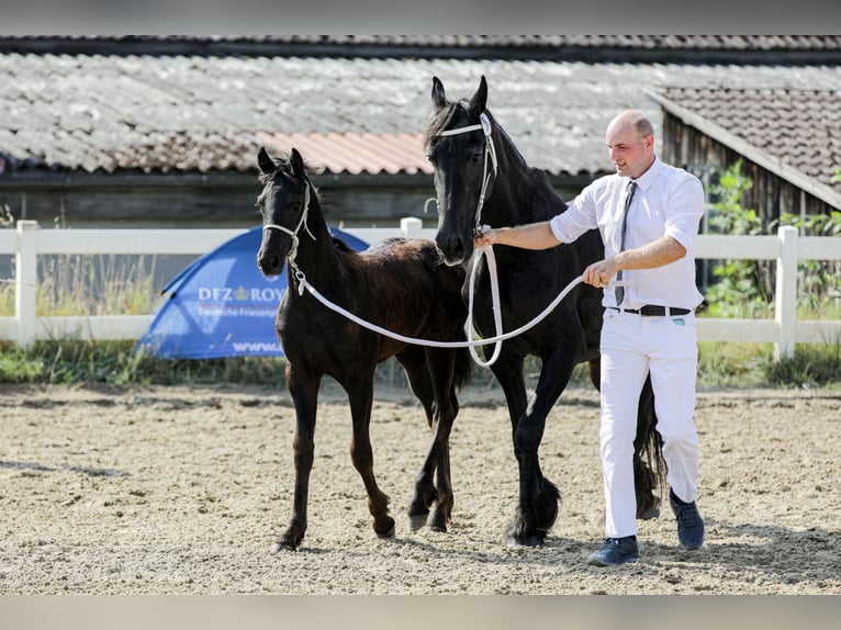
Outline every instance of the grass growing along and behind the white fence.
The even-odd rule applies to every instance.
[[[65,255],[38,258],[37,314],[133,315],[152,312],[158,295],[153,286],[155,259],[128,256]],[[14,314],[14,285],[0,284],[0,315]],[[801,306],[804,318],[841,318],[827,307]],[[0,382],[5,383],[138,383],[138,384],[253,384],[279,386],[282,358],[164,360],[135,353],[133,341],[41,341],[21,350],[0,344]],[[525,364],[529,382],[540,371],[537,359]],[[495,383],[489,370],[474,370],[474,383]],[[378,370],[386,384],[405,381],[394,361]],[[573,384],[588,385],[584,365]],[[841,386],[841,340],[823,345],[799,344],[793,359],[775,362],[771,344],[700,342],[698,384],[711,387]]]

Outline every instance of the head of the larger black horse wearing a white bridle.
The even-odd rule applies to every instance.
[[[438,233],[435,241],[447,265],[461,265],[473,254],[473,230],[481,205],[495,180],[496,155],[485,110],[487,82],[482,77],[469,101],[450,102],[444,83],[433,77],[435,117],[425,136],[435,168]]]

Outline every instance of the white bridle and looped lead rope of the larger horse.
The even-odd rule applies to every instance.
[[[479,191],[479,202],[476,203],[476,213],[475,213],[475,225],[473,227],[473,233],[479,234],[482,232],[482,206],[484,206],[485,198],[489,194],[489,188],[492,184],[492,181],[496,181],[496,148],[493,144],[493,137],[491,136],[491,120],[487,117],[487,114],[482,112],[479,115],[479,122],[478,125],[468,125],[464,127],[456,127],[453,130],[447,130],[444,132],[440,132],[439,136],[455,136],[458,134],[466,134],[468,132],[475,132],[479,130],[482,130],[482,132],[485,135],[485,150],[484,150],[484,157],[483,157],[483,166],[482,166],[482,173],[484,177],[482,178],[482,189]],[[493,167],[493,170],[487,169],[487,156],[491,156],[491,166]],[[493,180],[492,180],[493,178]],[[491,275],[491,299],[493,301],[493,315],[494,315],[494,326],[496,329],[496,338],[500,339],[495,342],[493,356],[487,361],[482,361],[482,359],[479,357],[479,353],[476,352],[475,348],[473,346],[469,346],[470,355],[473,357],[473,361],[478,365],[481,365],[483,368],[487,368],[491,364],[493,364],[496,359],[500,358],[500,352],[502,351],[502,337],[503,337],[503,329],[502,329],[502,308],[500,307],[500,283],[496,278],[496,258],[494,257],[493,249],[491,247],[480,247],[479,249],[474,250],[474,256],[476,257],[476,260],[473,261],[473,268],[470,270],[470,292],[469,292],[469,299],[468,299],[468,318],[464,322],[464,331],[467,333],[468,339],[473,338],[473,290],[475,288],[475,277],[476,277],[476,269],[479,268],[479,259],[481,259],[482,256],[485,256],[487,258],[487,273]],[[490,341],[485,341],[487,344]]]

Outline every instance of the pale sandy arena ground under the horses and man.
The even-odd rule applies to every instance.
[[[378,389],[375,469],[397,520],[371,529],[348,457],[350,418],[323,389],[310,528],[270,553],[292,491],[283,390],[0,387],[0,594],[841,594],[841,394],[700,392],[707,544],[676,545],[668,508],[640,562],[599,569],[597,396],[572,389],[541,446],[563,495],[541,549],[508,548],[516,464],[498,389],[462,393],[447,533],[405,511],[428,430],[401,387]]]

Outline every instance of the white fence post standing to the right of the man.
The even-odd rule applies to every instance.
[[[797,228],[786,225],[777,230],[780,258],[776,259],[776,297],[774,319],[777,338],[774,360],[793,359],[797,327]]]

